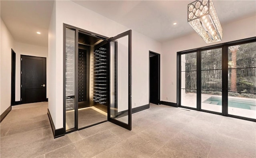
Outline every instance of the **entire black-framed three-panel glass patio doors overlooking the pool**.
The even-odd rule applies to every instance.
[[[179,107],[256,121],[256,38],[178,52]]]

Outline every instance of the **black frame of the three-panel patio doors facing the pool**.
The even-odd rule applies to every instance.
[[[177,52],[177,104],[178,107],[186,108],[186,109],[192,109],[197,111],[203,111],[207,113],[213,113],[217,115],[223,115],[228,117],[234,117],[237,119],[244,119],[244,120],[250,120],[256,122],[256,119],[251,119],[247,117],[241,117],[236,115],[230,115],[228,114],[228,47],[232,45],[239,45],[244,43],[250,43],[255,42],[256,37],[252,38],[246,38],[246,39],[240,39],[236,41],[230,41],[226,43],[220,43],[216,45],[210,45],[206,47],[200,47],[196,49],[190,49],[186,51],[179,51]],[[201,109],[201,51],[209,50],[209,49],[216,49],[216,48],[222,48],[222,113],[214,112],[214,111],[208,111]],[[185,107],[181,105],[181,55],[186,53],[194,53],[196,52],[196,71],[197,71],[197,95],[196,95],[196,102],[197,107]]]

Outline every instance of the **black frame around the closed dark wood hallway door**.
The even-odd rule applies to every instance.
[[[23,99],[22,100],[22,57],[38,57],[38,56],[32,56],[32,55],[20,55],[20,104],[26,104],[26,103],[37,103],[37,102],[42,102],[42,101],[47,101],[47,97],[46,97],[46,94],[45,94],[45,99],[42,100],[42,101],[33,101],[33,102],[25,102],[25,100]],[[46,57],[40,57],[40,58],[44,58],[45,59],[45,81],[46,81]],[[46,81],[47,83],[47,81]],[[45,93],[47,91],[47,84],[45,84]]]

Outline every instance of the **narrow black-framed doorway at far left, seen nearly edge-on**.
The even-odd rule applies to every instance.
[[[15,104],[16,53],[12,49],[11,105]]]

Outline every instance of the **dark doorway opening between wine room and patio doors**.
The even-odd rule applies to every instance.
[[[160,54],[149,51],[149,102],[160,103]]]

